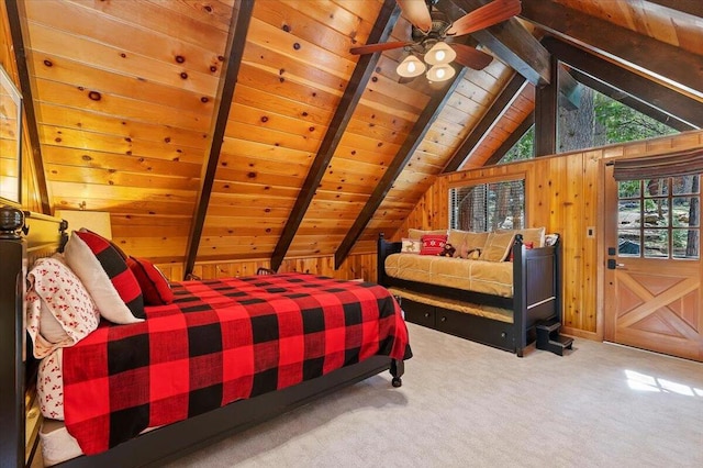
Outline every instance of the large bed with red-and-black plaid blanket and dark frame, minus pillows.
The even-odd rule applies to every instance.
[[[386,288],[297,274],[182,281],[144,320],[102,317],[59,348],[65,421],[41,428],[47,358],[33,359],[25,311],[38,288],[32,266],[53,263],[66,233],[62,220],[0,208],[0,379],[14,382],[0,398],[3,467],[30,463],[40,431],[68,433],[74,455],[90,454],[60,466],[157,466],[384,370],[402,383],[412,352]]]

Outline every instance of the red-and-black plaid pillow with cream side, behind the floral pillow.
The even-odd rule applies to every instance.
[[[140,283],[108,239],[88,231],[74,231],[64,257],[96,301],[100,315],[119,324],[143,320]]]

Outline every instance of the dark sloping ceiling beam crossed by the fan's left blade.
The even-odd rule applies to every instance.
[[[367,43],[375,44],[388,41],[399,16],[400,9],[398,8],[395,0],[386,0],[378,18],[376,19],[376,24],[371,30],[371,34],[369,35]],[[278,243],[276,244],[276,248],[271,255],[271,268],[274,270],[278,270],[281,266],[281,263],[286,257],[286,253],[288,252],[290,244],[293,242],[295,232],[298,231],[298,227],[300,227],[305,212],[308,211],[308,208],[310,208],[310,203],[312,203],[315,191],[317,190],[327,166],[330,165],[330,161],[332,160],[332,157],[346,132],[347,125],[354,115],[354,111],[364,94],[364,90],[371,79],[371,75],[373,75],[373,70],[379,58],[380,54],[366,54],[361,55],[359,60],[356,63],[352,78],[349,78],[349,83],[344,91],[339,105],[335,110],[327,132],[325,133],[325,136],[320,144],[320,148],[317,149],[317,155],[310,167],[310,171],[308,172],[305,181],[300,189],[300,193],[298,193],[298,199],[295,199],[295,204],[293,204],[293,209],[288,216],[288,221],[286,221],[283,232],[278,238]]]

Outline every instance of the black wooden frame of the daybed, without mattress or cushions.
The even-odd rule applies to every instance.
[[[490,305],[513,311],[513,323],[487,316],[429,307],[422,300],[399,297],[410,322],[431,326],[453,335],[494,346],[523,357],[525,347],[535,341],[537,324],[561,322],[561,242],[553,246],[526,248],[522,235],[515,236],[513,253],[513,297],[409,281],[386,274],[386,257],[401,252],[401,242],[378,238],[378,282],[387,288],[429,296],[437,300]]]

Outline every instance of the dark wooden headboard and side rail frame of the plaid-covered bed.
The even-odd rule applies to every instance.
[[[36,379],[23,324],[26,272],[36,258],[59,252],[67,239],[65,221],[0,207],[0,467],[24,467],[34,455],[36,434],[25,442],[25,394]],[[96,456],[81,456],[62,467],[159,466],[266,420],[291,411],[390,369],[401,385],[403,361],[386,356],[347,366],[283,390],[238,400],[196,417],[142,434]],[[13,383],[11,383],[13,382]],[[38,428],[38,427],[37,427]],[[36,431],[35,428],[34,431]]]

